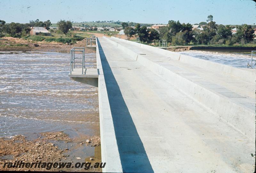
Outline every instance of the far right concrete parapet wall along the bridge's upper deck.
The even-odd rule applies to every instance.
[[[171,51],[160,49],[160,48],[157,48],[157,47],[152,47],[152,46],[136,43],[136,42],[133,42],[133,41],[123,40],[123,39],[119,39],[119,38],[116,38],[116,37],[111,37],[111,38],[113,38],[117,41],[122,41],[122,42],[129,43],[129,44],[131,44],[133,46],[136,46],[136,47],[141,47],[141,48],[144,48],[144,49],[148,49],[150,51],[154,50],[154,52],[156,52],[158,54],[162,54],[164,56],[170,57],[171,60],[179,60],[179,61],[182,61],[182,62],[187,62],[187,63],[193,64],[193,65],[197,65],[197,66],[200,66],[200,67],[208,68],[208,69],[211,69],[213,71],[220,72],[224,75],[235,77],[237,79],[240,79],[240,80],[243,80],[243,81],[246,81],[246,82],[256,81],[255,69],[253,70],[253,69],[247,69],[247,68],[246,69],[235,68],[235,67],[231,67],[231,66],[216,63],[216,62],[191,57],[191,56],[188,56],[188,55],[178,54],[176,52],[171,52]],[[116,44],[116,42],[114,42],[114,44]],[[244,77],[244,76],[246,76],[246,77]]]

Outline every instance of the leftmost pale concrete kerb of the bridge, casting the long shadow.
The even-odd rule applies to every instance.
[[[116,133],[108,102],[108,93],[103,75],[103,69],[96,38],[96,59],[99,69],[98,91],[99,91],[99,113],[100,113],[100,142],[101,142],[101,161],[106,162],[102,172],[123,172],[118,146],[116,142]]]

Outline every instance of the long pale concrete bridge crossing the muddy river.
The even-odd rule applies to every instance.
[[[99,88],[103,172],[254,171],[255,69],[115,37],[96,48],[97,70],[69,76]]]

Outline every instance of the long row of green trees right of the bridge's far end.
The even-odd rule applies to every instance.
[[[198,25],[198,24],[195,24]],[[137,34],[140,41],[152,42],[153,40],[167,40],[172,45],[188,45],[193,44],[226,44],[233,45],[235,43],[247,44],[253,40],[254,28],[251,25],[237,25],[236,34],[232,34],[232,26],[217,25],[213,21],[213,16],[209,15],[206,22],[200,22],[202,29],[192,29],[189,23],[180,23],[180,21],[170,20],[167,26],[159,28],[159,32],[154,29],[147,29],[146,26],[137,24],[134,29],[129,27],[126,22],[122,23],[124,33],[128,40],[132,35]],[[234,26],[233,26],[234,28]]]

